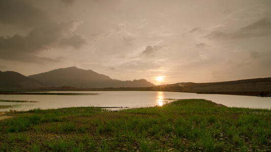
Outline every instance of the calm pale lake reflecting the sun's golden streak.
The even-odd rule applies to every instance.
[[[53,91],[52,91],[53,92]],[[99,95],[0,95],[4,100],[27,100],[38,102],[0,102],[0,105],[13,105],[13,107],[0,109],[0,111],[29,110],[34,108],[49,109],[80,106],[103,107],[145,107],[163,105],[171,99],[206,99],[226,105],[228,107],[248,107],[271,109],[271,97],[195,94],[182,92],[156,92],[156,91],[78,91],[53,93],[99,93]]]

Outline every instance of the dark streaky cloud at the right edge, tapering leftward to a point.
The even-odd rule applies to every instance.
[[[271,20],[261,19],[251,25],[240,28],[231,33],[213,31],[205,35],[207,39],[243,39],[248,37],[270,36],[271,35]]]

